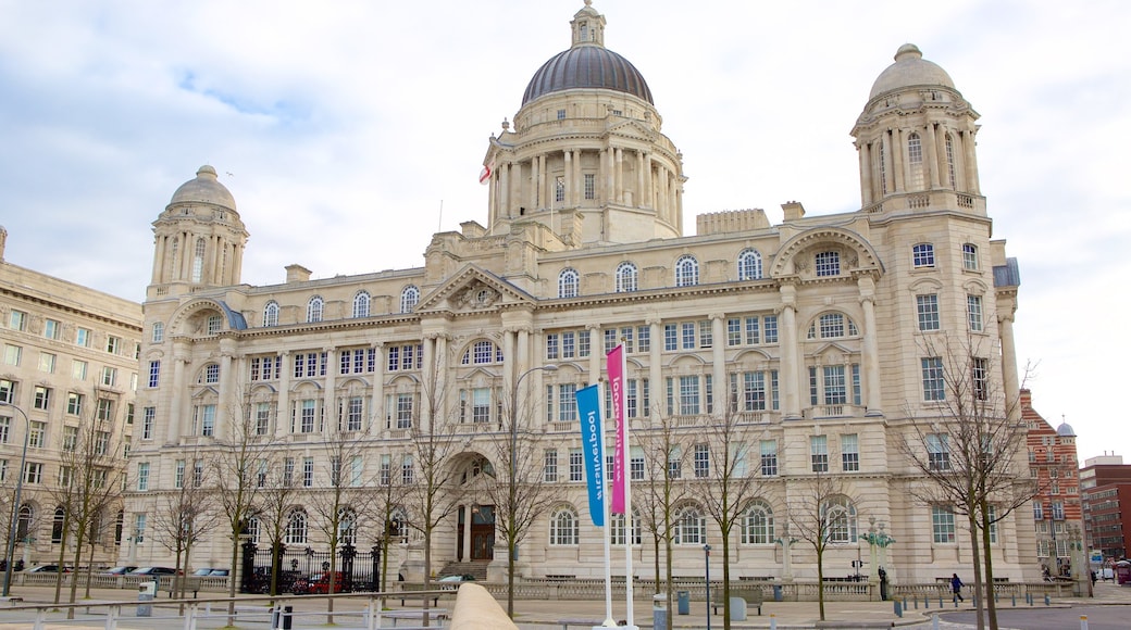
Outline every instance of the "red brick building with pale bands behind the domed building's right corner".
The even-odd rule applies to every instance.
[[[1071,568],[1070,542],[1083,535],[1076,431],[1067,422],[1053,429],[1033,409],[1029,390],[1021,390],[1020,402],[1021,420],[1028,425],[1029,471],[1037,480],[1033,498],[1037,558],[1050,574],[1067,575]]]

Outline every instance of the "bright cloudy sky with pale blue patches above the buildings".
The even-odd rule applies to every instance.
[[[251,233],[248,283],[282,282],[291,263],[316,278],[420,266],[438,228],[486,224],[487,138],[581,7],[0,0],[5,259],[140,301],[152,221],[211,164]],[[1131,463],[1113,397],[1131,344],[1111,329],[1131,277],[1115,252],[1131,245],[1131,3],[594,8],[683,151],[685,234],[701,212],[858,209],[848,132],[896,50],[917,44],[982,114],[982,191],[1020,264],[1035,408],[1072,425],[1081,461]]]

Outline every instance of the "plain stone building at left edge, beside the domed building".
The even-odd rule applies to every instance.
[[[3,260],[7,238],[0,227],[0,539],[7,550],[23,478],[14,558],[27,567],[58,563],[66,539],[69,563],[75,539],[62,535],[62,490],[96,478],[121,484],[124,473],[141,305],[11,264]],[[93,558],[84,549],[84,565],[118,559],[124,515],[114,495],[93,520]]]

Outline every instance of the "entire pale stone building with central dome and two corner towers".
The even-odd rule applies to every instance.
[[[434,532],[433,571],[506,569],[482,475],[508,470],[497,447],[513,439],[519,453],[536,449],[537,474],[561,493],[518,545],[520,572],[598,577],[573,393],[606,376],[603,355],[623,342],[637,497],[657,479],[642,445],[663,429],[682,445],[681,476],[709,483],[722,458],[708,436],[731,420],[741,428],[728,453],[757,490],[731,534],[735,577],[815,578],[812,549],[780,541],[804,516],[791,506],[822,475],[844,489],[830,504],[839,516],[826,575],[856,572],[865,558],[872,576],[883,563],[905,581],[969,566],[955,514],[912,498],[923,480],[900,444],[913,421],[947,423],[950,339],[970,352],[978,391],[1018,413],[1004,404],[1019,395],[1017,263],[991,237],[977,113],[905,45],[853,128],[860,210],[806,215],[788,202],[779,225],[757,209],[716,212],[683,235],[683,156],[644,77],[605,47],[605,25],[588,2],[573,16],[570,47],[487,143],[485,225],[435,234],[422,268],[312,279],[291,265],[284,283],[247,286],[249,228],[215,170],[174,193],[154,222],[130,461],[147,485],[131,485],[129,523],[144,526],[187,466],[253,418],[264,466],[282,462],[300,487],[287,544],[325,548],[302,497],[346,467],[374,493],[390,479],[418,484],[428,427],[451,445],[440,479],[452,510]],[[357,448],[348,463],[327,446],[343,435]],[[693,492],[676,508],[675,572],[701,576],[719,530]],[[424,516],[407,502],[398,514],[389,557],[417,579],[424,550],[412,527]],[[1030,519],[1026,508],[999,524],[998,576],[1038,575]],[[359,513],[348,527],[369,549],[387,524]],[[248,532],[265,542],[260,523]],[[895,542],[873,562],[865,539],[877,532]],[[638,537],[636,574],[650,577],[651,543]],[[196,566],[226,562],[231,543],[211,539]],[[167,561],[152,545],[123,557]]]

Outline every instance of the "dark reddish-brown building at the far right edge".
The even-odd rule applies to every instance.
[[[1126,558],[1131,533],[1131,465],[1119,455],[1093,457],[1080,471],[1083,527],[1088,549],[1104,554],[1104,562]]]

